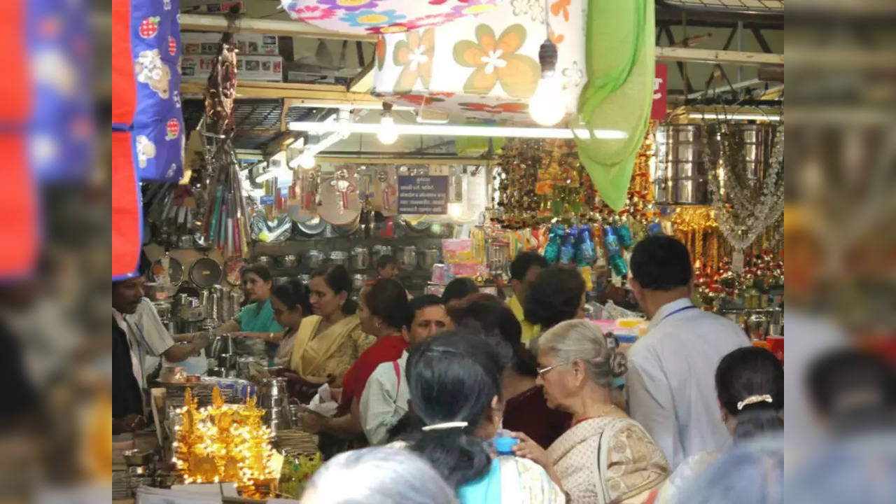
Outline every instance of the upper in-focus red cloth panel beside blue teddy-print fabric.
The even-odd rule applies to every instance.
[[[131,2],[112,2],[112,124],[131,125],[137,83],[131,59]]]

